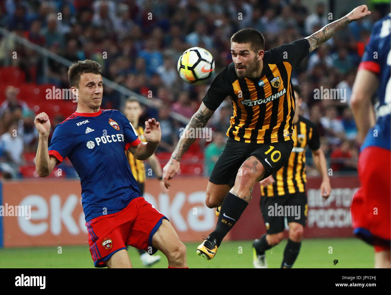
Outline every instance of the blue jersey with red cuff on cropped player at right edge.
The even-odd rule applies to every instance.
[[[391,14],[375,23],[368,45],[365,47],[359,69],[366,69],[377,75],[379,87],[377,96],[377,121],[361,147],[381,147],[391,150]],[[373,132],[377,130],[376,132]]]

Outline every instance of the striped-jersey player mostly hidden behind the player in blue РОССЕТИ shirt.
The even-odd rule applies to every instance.
[[[144,128],[142,126],[138,125],[138,121],[140,119],[140,116],[142,114],[142,108],[140,105],[140,102],[135,97],[130,97],[125,102],[125,108],[124,108],[124,115],[126,118],[131,122],[133,127],[135,127],[136,132],[138,134],[138,138],[146,142],[144,137]],[[144,195],[144,189],[145,189],[145,165],[144,161],[140,161],[135,158],[135,156],[129,152],[129,150],[126,151],[126,157],[127,161],[129,162],[130,169],[132,171],[133,176],[136,179],[138,188],[140,189],[140,193],[143,196]],[[158,158],[156,157],[155,153],[153,153],[148,159],[147,159],[149,165],[151,165],[151,169],[153,173],[156,175],[156,178],[160,180],[160,187],[161,187],[161,193],[167,193],[167,189],[164,186],[163,177],[162,177],[162,171],[160,167],[160,163]],[[140,253],[140,259],[145,266],[151,266],[154,263],[157,263],[160,260],[160,255],[149,255],[146,251],[138,249],[138,253]]]

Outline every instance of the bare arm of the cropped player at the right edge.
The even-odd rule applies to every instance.
[[[352,107],[360,143],[374,125],[371,97],[375,94],[378,83],[378,78],[373,72],[366,69],[360,69],[357,72],[352,96],[350,97],[350,106]]]

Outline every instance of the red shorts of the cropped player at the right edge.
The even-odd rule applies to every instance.
[[[391,152],[367,147],[358,163],[361,187],[352,199],[355,235],[371,245],[390,246]]]

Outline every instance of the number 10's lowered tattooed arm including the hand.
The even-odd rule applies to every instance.
[[[179,171],[179,162],[181,161],[183,154],[185,154],[190,145],[192,145],[192,143],[196,140],[196,138],[192,138],[192,136],[187,136],[188,133],[192,129],[205,127],[213,113],[214,111],[208,109],[202,102],[198,111],[193,115],[193,117],[190,119],[190,122],[186,125],[186,128],[183,131],[182,136],[171,155],[170,161],[163,168],[163,181],[167,188],[170,186],[168,180],[174,177]]]

